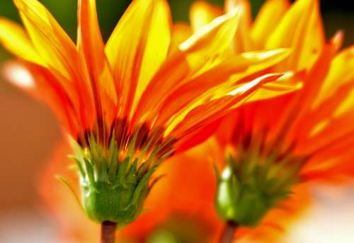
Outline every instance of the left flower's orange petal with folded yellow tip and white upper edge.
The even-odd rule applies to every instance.
[[[188,76],[205,72],[230,55],[229,47],[238,22],[237,12],[216,18],[182,43],[169,57],[144,91],[135,118],[152,121],[163,99],[171,94]]]

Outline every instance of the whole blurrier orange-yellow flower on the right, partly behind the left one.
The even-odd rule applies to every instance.
[[[294,94],[249,103],[220,126],[217,140],[224,155],[219,160],[227,156],[227,162],[218,179],[216,207],[230,230],[258,225],[299,183],[354,174],[353,47],[338,53],[342,33],[325,42],[318,1],[290,6],[268,0],[253,23],[248,1],[226,1],[227,11],[234,8],[244,11],[233,53],[291,48],[290,57],[271,70],[303,72],[304,86]],[[199,2],[191,11],[192,27],[221,13]]]

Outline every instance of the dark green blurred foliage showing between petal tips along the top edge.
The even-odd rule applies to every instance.
[[[124,13],[131,0],[97,0],[98,16],[101,23],[102,33],[105,39],[113,30],[118,19]],[[195,0],[169,0],[173,21],[188,22],[190,5]],[[205,0],[211,4],[222,6],[224,0]],[[62,24],[72,38],[76,35],[76,1],[75,0],[42,0],[41,1]],[[263,4],[264,0],[250,0],[253,16]],[[346,30],[353,35],[353,28],[350,23],[354,23],[353,6],[350,1],[321,1],[321,11],[324,14],[324,22],[327,33],[332,35],[336,28]],[[334,14],[334,17],[333,17]],[[1,0],[0,16],[12,18],[19,21],[18,14],[12,0]],[[348,19],[349,18],[349,19]],[[352,25],[353,26],[353,25]]]

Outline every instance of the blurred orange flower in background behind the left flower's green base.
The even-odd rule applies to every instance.
[[[69,148],[67,142],[62,142],[55,148],[55,153],[42,171],[40,194],[58,222],[57,232],[62,242],[98,242],[100,234],[97,225],[86,220],[72,193],[53,177],[53,174],[61,174],[69,181],[77,181],[75,171],[67,166]],[[206,230],[202,235],[198,235],[200,232],[193,232],[185,223],[178,225],[178,229],[184,229],[186,232],[192,230],[191,237],[202,236],[208,239],[207,242],[210,237],[216,239],[216,232],[222,229],[212,203],[216,179],[212,166],[206,165],[205,160],[200,158],[207,149],[210,147],[198,146],[188,153],[181,153],[166,160],[166,163],[159,166],[153,176],[164,177],[149,192],[144,203],[144,212],[135,222],[117,232],[118,242],[147,242],[147,239],[154,237],[156,232],[164,228],[166,222],[173,222],[176,217],[184,219],[185,222],[193,220],[194,224],[198,223],[200,230]],[[185,166],[185,163],[188,163],[188,166]],[[79,183],[73,185],[73,190],[78,193]]]

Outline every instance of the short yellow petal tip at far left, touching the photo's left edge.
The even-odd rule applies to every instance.
[[[16,57],[45,65],[35,52],[35,47],[30,43],[27,33],[18,23],[0,18],[0,43]]]

